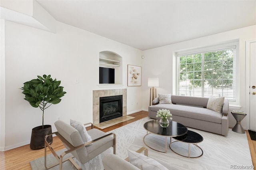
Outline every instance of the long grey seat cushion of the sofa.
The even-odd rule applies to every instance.
[[[212,111],[210,109],[202,108],[202,107],[191,107],[186,105],[170,105],[170,104],[158,104],[154,106],[150,106],[151,111],[158,111],[159,109],[167,109],[170,110],[172,115],[188,117],[192,119],[198,119],[202,121],[221,123],[222,121],[222,113],[218,113],[216,111]],[[155,117],[155,119],[157,119]],[[175,121],[175,120],[174,120]]]

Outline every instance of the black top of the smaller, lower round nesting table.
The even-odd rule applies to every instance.
[[[204,140],[203,136],[191,130],[188,130],[187,134],[184,134],[183,136],[177,136],[173,138],[186,143],[199,143]]]

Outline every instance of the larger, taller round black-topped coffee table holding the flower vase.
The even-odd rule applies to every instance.
[[[175,122],[175,121],[170,121],[170,124],[168,127],[163,128],[160,126],[159,124],[159,120],[153,120],[153,121],[148,121],[146,123],[144,123],[144,129],[147,131],[147,134],[144,136],[143,138],[143,142],[144,144],[146,144],[145,142],[145,137],[148,134],[156,134],[156,135],[160,135],[160,136],[165,136],[165,152],[167,152],[167,137],[175,137],[175,136],[182,136],[184,134],[187,133],[188,128],[186,128],[184,125]],[[148,146],[148,144],[146,144],[146,146]],[[156,150],[150,146],[148,146],[149,148]],[[159,152],[163,152],[160,150],[156,150]]]

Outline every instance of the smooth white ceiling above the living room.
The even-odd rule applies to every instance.
[[[56,20],[146,50],[256,25],[256,0],[37,0]]]

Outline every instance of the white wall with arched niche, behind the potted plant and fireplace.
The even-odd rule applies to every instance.
[[[31,107],[20,89],[37,75],[50,74],[61,80],[67,92],[59,104],[45,111],[44,124],[52,125],[53,131],[58,118],[66,122],[69,119],[92,122],[92,91],[97,89],[127,88],[127,113],[141,110],[142,87],[127,87],[126,83],[127,64],[142,65],[141,50],[60,22],[56,22],[56,34],[53,34],[6,21],[4,36],[5,55],[1,56],[1,65],[5,59],[5,73],[1,72],[1,83],[5,81],[6,88],[1,86],[1,99],[5,92],[6,105],[5,113],[1,110],[0,121],[2,127],[5,116],[5,138],[1,135],[0,140],[1,144],[5,140],[5,145],[0,146],[1,150],[29,144],[31,129],[42,125],[42,111]],[[123,86],[98,86],[100,51],[113,51],[123,57]],[[134,106],[134,101],[138,105]],[[4,129],[0,132],[3,134]]]

